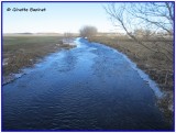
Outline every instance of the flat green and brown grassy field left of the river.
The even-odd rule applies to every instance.
[[[38,58],[59,48],[69,48],[62,43],[63,36],[3,36],[3,76],[32,66]],[[59,46],[56,44],[61,44]]]

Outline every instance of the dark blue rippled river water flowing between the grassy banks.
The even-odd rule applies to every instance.
[[[77,47],[2,86],[2,130],[172,130],[150,85],[113,48]]]

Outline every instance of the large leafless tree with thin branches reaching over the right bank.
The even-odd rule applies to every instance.
[[[105,7],[105,10],[109,14],[114,26],[124,30],[131,38],[145,48],[155,53],[162,53],[167,59],[172,60],[172,52],[167,49],[167,52],[163,52],[160,51],[160,48],[151,48],[133,33],[136,29],[144,29],[144,31],[150,31],[146,32],[147,38],[153,37],[154,35],[155,37],[158,37],[156,33],[161,31],[173,37],[173,2],[123,2],[118,5],[116,3],[110,3]],[[160,37],[165,38],[165,36]]]

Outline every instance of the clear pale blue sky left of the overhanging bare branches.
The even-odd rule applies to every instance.
[[[3,33],[78,33],[84,25],[92,25],[99,32],[114,32],[102,5],[106,2],[3,2]],[[28,11],[14,11],[16,9]],[[31,12],[30,8],[46,9]],[[10,11],[7,11],[11,9]]]

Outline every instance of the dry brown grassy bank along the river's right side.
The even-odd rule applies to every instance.
[[[118,49],[132,59],[139,68],[144,70],[151,79],[155,80],[164,97],[157,101],[161,110],[164,112],[170,123],[174,117],[174,68],[173,56],[168,60],[161,53],[153,53],[150,49],[139,45],[133,40],[128,37],[110,37],[110,36],[96,36],[89,38],[90,42],[106,44],[110,47]],[[172,40],[151,40],[145,41],[150,48],[166,49],[173,54],[174,46]],[[164,52],[164,51],[163,51]],[[165,54],[167,55],[167,53]]]

